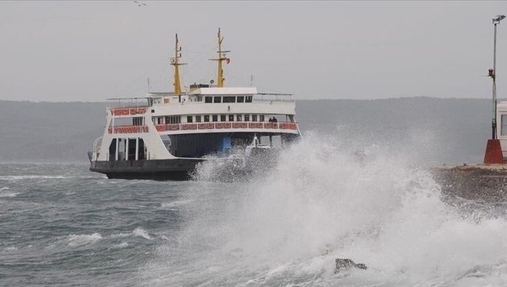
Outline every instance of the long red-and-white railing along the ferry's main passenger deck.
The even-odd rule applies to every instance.
[[[182,124],[156,124],[158,132],[222,130],[231,128],[266,128],[279,130],[297,130],[295,122],[195,122]]]

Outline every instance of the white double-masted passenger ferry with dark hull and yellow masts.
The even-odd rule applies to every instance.
[[[247,165],[258,154],[252,150],[269,150],[273,137],[280,147],[299,139],[292,94],[224,87],[230,51],[222,42],[219,29],[218,57],[211,59],[218,64],[216,85],[196,83],[182,91],[176,35],[173,92],[108,99],[105,131],[88,152],[90,170],[108,178],[184,180],[203,161],[240,159]]]

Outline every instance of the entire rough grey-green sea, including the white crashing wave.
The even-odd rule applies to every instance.
[[[0,164],[0,286],[507,285],[505,208],[445,204],[403,156],[368,153],[307,137],[236,183]],[[369,269],[334,274],[337,257]]]

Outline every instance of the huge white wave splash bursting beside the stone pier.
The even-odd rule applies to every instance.
[[[358,159],[355,150],[308,135],[268,176],[196,182],[186,229],[145,277],[160,285],[507,284],[504,218],[443,203],[412,155],[365,146]],[[369,269],[336,275],[335,258]]]

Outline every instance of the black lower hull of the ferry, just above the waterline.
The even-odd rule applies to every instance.
[[[140,161],[92,161],[91,172],[108,178],[139,180],[189,180],[202,159],[151,159]]]

